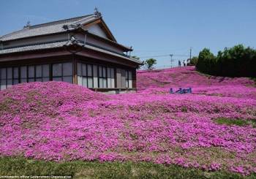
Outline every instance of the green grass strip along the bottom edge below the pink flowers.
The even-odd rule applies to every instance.
[[[149,162],[38,161],[0,157],[0,175],[73,175],[74,178],[256,178]]]

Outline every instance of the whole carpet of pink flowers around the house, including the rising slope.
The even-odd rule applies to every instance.
[[[192,94],[168,94],[169,88]],[[225,118],[243,125],[218,123]],[[53,161],[151,161],[256,172],[256,88],[193,66],[138,71],[138,93],[61,82],[0,91],[0,155]]]

